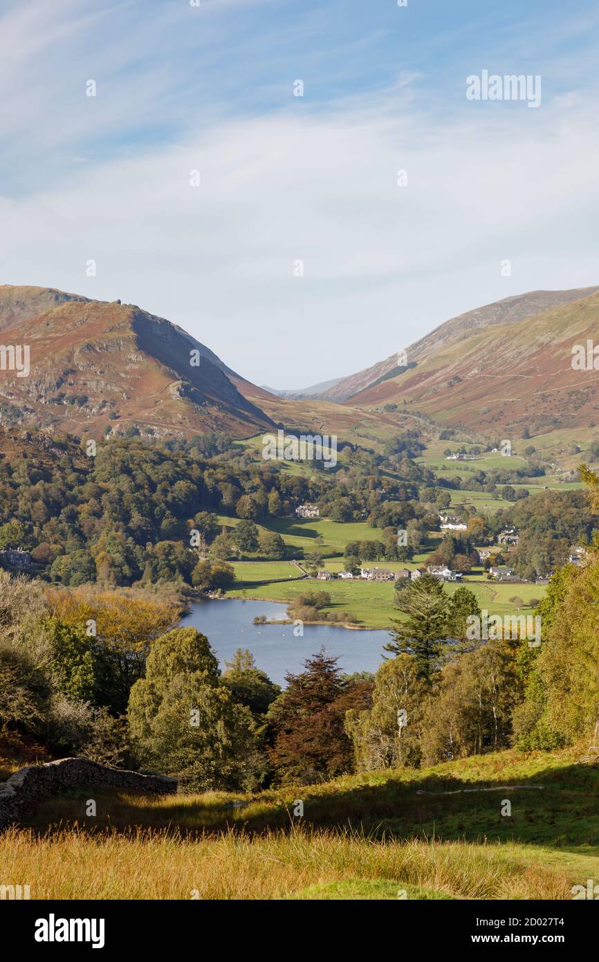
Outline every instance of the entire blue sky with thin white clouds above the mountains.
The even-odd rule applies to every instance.
[[[596,284],[597,27],[586,0],[5,3],[1,280],[139,304],[276,388]],[[484,69],[540,75],[539,109],[468,101]]]

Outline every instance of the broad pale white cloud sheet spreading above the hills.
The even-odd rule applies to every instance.
[[[99,154],[94,134],[122,132],[153,105],[164,120],[181,78],[170,59],[150,68],[146,58],[137,83],[119,87],[130,40],[110,44],[103,33],[110,96],[90,104],[82,94],[72,107],[74,73],[89,75],[83,57],[76,69],[41,71],[28,89],[24,64],[87,30],[73,19],[80,5],[60,6],[64,22],[53,21],[49,46],[42,15],[9,70],[18,107],[15,121],[5,117],[10,165],[29,138],[39,176],[27,190],[3,191],[3,282],[137,303],[245,376],[281,388],[366,367],[502,296],[597,283],[591,92],[543,97],[538,111],[466,107],[464,95],[464,109],[441,121],[425,113],[421,78],[408,71],[377,96],[316,110],[289,95],[285,110],[249,118],[225,118],[213,104],[190,111],[184,97],[185,110],[173,108],[185,117],[176,143],[139,138],[126,153],[121,143]],[[9,26],[16,41],[34,25],[14,13]],[[160,20],[137,25],[141,49],[161,28]],[[44,95],[60,104],[58,123],[38,102],[48,76]],[[192,168],[199,189],[189,187]],[[396,186],[399,168],[406,188]],[[86,276],[91,258],[95,279]],[[505,258],[511,278],[500,273]],[[293,276],[296,259],[303,278]]]

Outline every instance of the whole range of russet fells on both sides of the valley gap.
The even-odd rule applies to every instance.
[[[599,288],[533,291],[441,324],[407,348],[407,367],[393,355],[348,378],[273,392],[137,305],[4,286],[1,342],[29,344],[31,371],[2,369],[0,351],[0,427],[249,438],[285,424],[377,448],[413,412],[520,436],[524,426],[599,423],[596,372],[570,363],[573,344],[599,342],[598,331]]]

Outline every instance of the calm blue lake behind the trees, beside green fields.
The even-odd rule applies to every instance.
[[[324,646],[327,655],[337,655],[342,671],[376,671],[383,661],[387,631],[350,631],[324,624],[304,625],[304,637],[295,638],[292,624],[253,624],[257,615],[287,618],[287,605],[274,601],[194,602],[181,626],[197,628],[210,641],[224,669],[236,648],[249,648],[258,668],[279,685],[286,671],[297,674],[304,662]]]

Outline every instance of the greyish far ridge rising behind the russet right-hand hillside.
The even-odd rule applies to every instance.
[[[580,300],[596,291],[599,291],[599,287],[579,288],[571,291],[530,291],[513,297],[505,297],[493,304],[487,304],[485,307],[446,320],[430,334],[407,348],[407,361],[409,364],[420,362],[442,347],[462,341],[473,331],[480,328],[514,324],[526,317],[533,317],[543,311],[548,311],[550,308]],[[390,372],[397,372],[397,363],[397,355],[392,354],[385,361],[380,361],[372,367],[366,367],[349,377],[337,379],[332,388],[318,392],[318,396],[324,400],[337,402],[347,401],[350,398],[353,400],[356,394],[373,387],[381,378],[389,376]]]

